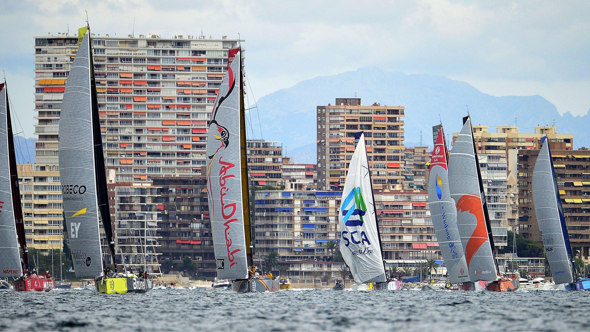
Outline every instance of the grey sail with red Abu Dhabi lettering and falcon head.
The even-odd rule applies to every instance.
[[[240,48],[230,49],[228,55],[227,73],[219,87],[207,134],[209,213],[218,278],[245,279],[248,262],[244,218],[248,216],[244,213],[247,203],[242,199]]]

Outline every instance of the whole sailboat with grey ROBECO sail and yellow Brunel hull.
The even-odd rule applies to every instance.
[[[74,271],[76,278],[94,278],[101,294],[147,292],[153,288],[152,281],[126,271],[117,273],[91,45],[90,28],[79,29],[59,128],[61,194]],[[114,271],[105,268],[100,223]]]

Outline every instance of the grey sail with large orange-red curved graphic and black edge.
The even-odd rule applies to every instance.
[[[493,237],[482,197],[483,184],[471,129],[471,119],[463,118],[449,157],[448,181],[451,197],[457,206],[457,227],[465,249],[469,278],[476,281],[497,280],[493,254]]]

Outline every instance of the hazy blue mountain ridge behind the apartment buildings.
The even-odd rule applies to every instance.
[[[378,67],[314,77],[261,97],[257,111],[264,138],[281,141],[298,155],[313,152],[313,158],[305,162],[315,160],[315,148],[310,151],[309,146],[316,141],[316,106],[355,95],[363,105],[405,106],[406,142],[419,142],[422,136],[425,145],[432,145],[431,126],[438,124],[439,115],[448,134],[458,132],[468,109],[473,123],[489,125],[489,131],[514,125],[515,118],[521,132],[533,132],[536,125],[550,125],[555,120],[558,132],[573,134],[576,148],[590,144],[590,134],[584,128],[590,115],[560,115],[555,105],[538,94],[493,96],[445,76],[404,74]],[[255,131],[260,130],[258,116],[251,116]],[[302,147],[306,148],[300,151]]]

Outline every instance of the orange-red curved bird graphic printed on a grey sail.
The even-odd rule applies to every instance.
[[[481,245],[488,240],[486,220],[483,215],[483,207],[481,207],[481,198],[471,195],[461,196],[457,201],[457,211],[471,213],[477,220],[476,229],[473,231],[473,234],[471,234],[470,239],[467,241],[467,246],[465,247],[465,258],[467,260],[467,266],[469,266],[469,262],[471,261],[471,258],[473,258],[473,255],[475,255]]]

